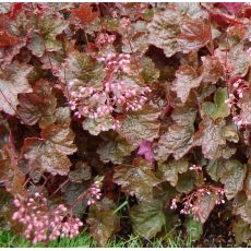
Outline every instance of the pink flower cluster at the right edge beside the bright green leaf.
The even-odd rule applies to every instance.
[[[248,122],[243,120],[243,118],[240,117],[238,113],[238,110],[240,108],[239,101],[241,98],[243,98],[243,93],[249,88],[246,81],[238,79],[234,84],[232,88],[229,93],[229,97],[225,103],[229,108],[231,108],[234,117],[232,121],[237,127],[241,127],[243,124],[247,124]]]

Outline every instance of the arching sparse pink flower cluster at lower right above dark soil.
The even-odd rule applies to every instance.
[[[180,211],[180,214],[184,214],[184,215],[191,214],[195,219],[198,219],[198,213],[201,210],[199,205],[200,201],[206,194],[207,195],[214,194],[216,205],[225,203],[224,189],[207,186],[204,188],[199,188],[198,190],[193,191],[182,200],[179,200],[178,198],[172,199],[170,210],[176,210],[177,203],[179,202],[182,204],[182,210]]]

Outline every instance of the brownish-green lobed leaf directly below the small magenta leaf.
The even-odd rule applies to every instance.
[[[152,165],[138,157],[133,165],[122,164],[115,168],[113,182],[121,186],[121,190],[130,195],[134,195],[140,201],[151,201],[153,199],[153,187],[160,182],[151,170]]]

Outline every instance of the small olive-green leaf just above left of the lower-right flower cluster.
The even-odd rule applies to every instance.
[[[170,182],[175,187],[178,182],[178,174],[183,174],[189,168],[189,162],[186,158],[159,163],[158,169],[162,172],[162,179]]]

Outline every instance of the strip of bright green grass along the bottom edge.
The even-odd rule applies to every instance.
[[[110,240],[107,243],[107,248],[142,248],[144,247],[143,239],[139,236],[130,236],[127,240]],[[0,248],[96,248],[96,241],[89,237],[87,231],[83,231],[80,236],[73,239],[59,239],[50,241],[47,244],[38,243],[31,244],[25,238],[14,235],[10,231],[0,231]],[[191,247],[191,243],[184,243],[181,236],[170,239],[168,237],[148,241],[147,246],[150,248],[184,248]]]

